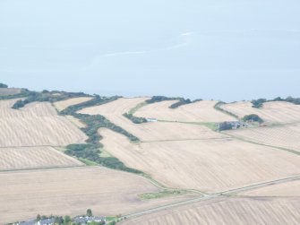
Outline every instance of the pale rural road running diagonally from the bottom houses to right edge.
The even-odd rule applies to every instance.
[[[289,181],[293,181],[293,180],[298,180],[298,179],[300,179],[300,175],[295,176],[295,177],[286,177],[286,178],[271,180],[271,181],[268,181],[268,182],[262,182],[262,183],[254,184],[254,185],[251,185],[251,186],[244,186],[244,187],[240,187],[240,188],[230,189],[230,190],[227,190],[227,191],[224,191],[224,192],[219,192],[219,193],[211,194],[211,195],[204,195],[204,196],[196,197],[196,198],[193,198],[193,199],[190,199],[190,200],[185,200],[185,201],[179,202],[179,203],[171,203],[171,204],[159,206],[159,207],[156,207],[156,208],[153,208],[153,209],[150,209],[150,210],[144,210],[144,211],[141,211],[141,212],[133,212],[131,214],[124,215],[123,218],[129,219],[129,218],[133,218],[133,217],[137,217],[137,216],[141,216],[141,215],[145,215],[145,214],[150,214],[152,212],[159,212],[161,210],[174,208],[176,206],[180,206],[180,205],[184,205],[184,204],[188,204],[188,203],[202,202],[202,201],[206,201],[206,200],[209,200],[209,199],[212,199],[212,198],[217,198],[217,197],[224,196],[224,195],[233,195],[233,194],[236,194],[236,193],[240,193],[240,192],[260,188],[260,187],[263,187],[263,186],[276,185],[276,184],[281,184],[281,183],[285,183],[285,182],[289,182]]]

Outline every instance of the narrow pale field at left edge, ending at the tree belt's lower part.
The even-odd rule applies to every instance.
[[[52,147],[0,148],[0,170],[73,167],[79,160]]]

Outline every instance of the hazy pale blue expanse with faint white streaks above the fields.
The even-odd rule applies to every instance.
[[[300,97],[299,8],[299,0],[0,0],[0,82],[127,97]]]

